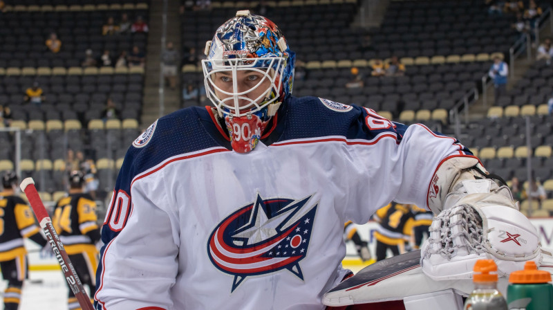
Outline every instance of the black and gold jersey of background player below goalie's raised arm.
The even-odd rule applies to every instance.
[[[402,244],[411,235],[414,220],[409,206],[390,203],[377,210],[373,218],[379,224],[374,236],[380,242],[391,246]]]

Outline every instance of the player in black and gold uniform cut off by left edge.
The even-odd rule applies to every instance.
[[[46,239],[39,233],[32,211],[21,197],[15,195],[17,175],[8,171],[2,176],[0,192],[0,268],[2,277],[8,280],[4,291],[4,309],[17,310],[21,300],[21,287],[27,278],[27,251],[23,238],[32,239],[40,246]]]

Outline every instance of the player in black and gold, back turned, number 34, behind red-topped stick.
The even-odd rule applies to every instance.
[[[83,192],[82,172],[71,172],[69,185],[68,197],[59,199],[56,204],[53,225],[82,284],[88,285],[93,292],[98,265],[95,244],[100,240],[96,203],[90,194]],[[68,309],[81,309],[71,289],[68,290]]]

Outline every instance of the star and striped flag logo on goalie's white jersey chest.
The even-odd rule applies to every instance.
[[[212,264],[234,275],[231,292],[252,275],[288,269],[303,280],[299,262],[306,257],[317,203],[303,199],[256,200],[223,219],[209,236]]]

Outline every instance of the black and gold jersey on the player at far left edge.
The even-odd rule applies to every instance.
[[[21,197],[0,192],[0,262],[27,253],[23,238],[39,237],[35,216]],[[46,244],[44,240],[43,244]]]

